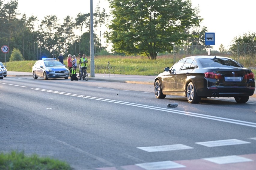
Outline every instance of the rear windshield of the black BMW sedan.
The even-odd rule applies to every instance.
[[[201,58],[204,67],[243,67],[240,63],[229,58]]]

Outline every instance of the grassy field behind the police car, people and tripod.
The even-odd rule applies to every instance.
[[[90,73],[90,57],[88,59],[87,71]],[[108,65],[108,61],[110,65]],[[178,61],[178,59],[176,60]],[[7,62],[8,71],[32,72],[35,61],[13,61]],[[67,67],[67,60],[64,60]],[[173,65],[172,56],[160,56],[156,60],[145,57],[121,57],[121,56],[96,56],[94,57],[95,73],[114,73],[121,75],[158,75],[165,67]],[[252,70],[254,75],[256,70]]]

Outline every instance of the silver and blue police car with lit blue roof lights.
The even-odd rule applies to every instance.
[[[44,80],[48,78],[69,78],[69,69],[66,65],[57,61],[56,58],[43,58],[35,62],[32,67],[33,78],[43,77]]]

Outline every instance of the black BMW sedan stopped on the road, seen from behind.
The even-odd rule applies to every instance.
[[[234,97],[246,103],[255,90],[255,78],[250,69],[228,57],[191,56],[166,67],[155,78],[157,98],[166,95],[186,96],[189,103],[201,98]]]

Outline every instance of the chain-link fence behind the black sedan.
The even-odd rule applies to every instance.
[[[247,68],[256,68],[256,43],[233,45],[229,50],[219,52],[214,45],[174,45],[173,62],[192,55],[216,55],[230,57]]]

